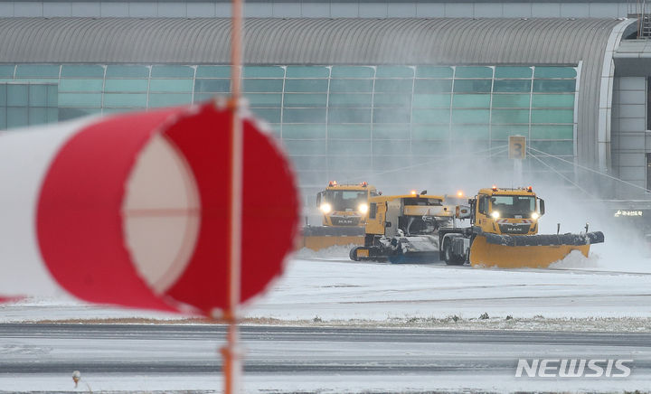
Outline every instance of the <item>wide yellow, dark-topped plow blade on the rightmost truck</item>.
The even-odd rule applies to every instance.
[[[523,235],[479,234],[470,247],[473,267],[544,268],[572,250],[588,257],[590,245],[604,241],[601,231],[586,234]]]

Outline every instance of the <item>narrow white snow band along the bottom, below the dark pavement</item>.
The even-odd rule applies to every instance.
[[[511,371],[509,371],[511,372]],[[88,380],[90,389],[83,384]],[[550,378],[514,378],[512,373],[460,375],[436,374],[259,374],[246,376],[242,390],[247,393],[504,393],[504,392],[640,392],[648,387],[651,376],[631,375],[626,380],[556,380]],[[30,390],[22,389],[22,381],[29,380]],[[219,374],[177,376],[146,375],[124,376],[118,374],[93,374],[82,378],[73,389],[71,377],[61,375],[9,375],[0,376],[0,393],[15,392],[102,392],[143,394],[191,394],[222,392]],[[100,391],[98,391],[100,390]],[[644,392],[644,391],[642,391]]]

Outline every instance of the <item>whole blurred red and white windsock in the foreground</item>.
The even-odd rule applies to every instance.
[[[0,135],[0,298],[228,307],[231,109],[214,103]],[[244,120],[241,301],[282,271],[297,192]]]

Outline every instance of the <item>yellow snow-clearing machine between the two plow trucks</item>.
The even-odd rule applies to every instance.
[[[363,246],[350,258],[420,263],[439,260],[439,228],[454,220],[455,206],[443,205],[443,196],[427,191],[377,196],[369,200]]]

